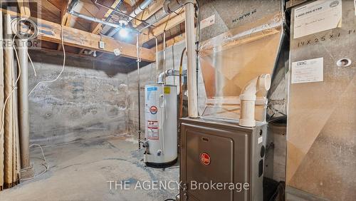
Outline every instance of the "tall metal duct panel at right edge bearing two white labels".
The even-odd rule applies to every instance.
[[[328,1],[326,6],[337,2]],[[290,66],[323,58],[323,81],[290,84],[286,183],[328,200],[355,200],[356,16],[353,1],[341,3],[337,28],[298,38],[293,37],[295,10],[308,4],[292,10]],[[327,17],[328,12],[322,15]],[[313,74],[315,67],[309,70],[304,76]]]

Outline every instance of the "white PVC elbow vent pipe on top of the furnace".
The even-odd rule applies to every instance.
[[[258,91],[268,91],[271,87],[271,76],[269,74],[262,74],[249,81],[243,88],[240,100],[241,111],[239,125],[244,127],[256,126],[255,120],[255,102],[256,93]]]

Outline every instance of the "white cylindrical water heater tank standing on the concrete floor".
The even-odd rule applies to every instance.
[[[145,86],[145,163],[167,168],[177,162],[177,86]]]

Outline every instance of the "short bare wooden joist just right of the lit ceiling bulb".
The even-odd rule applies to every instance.
[[[181,24],[184,20],[185,20],[184,11],[181,11],[178,15],[174,13],[169,14],[169,16],[167,16],[167,19],[165,20],[164,23],[159,24],[150,32],[147,31],[147,35],[142,35],[143,38],[142,43],[146,43],[147,41],[150,41],[152,38],[155,38],[155,36],[162,34],[164,31],[172,29],[177,24]]]

